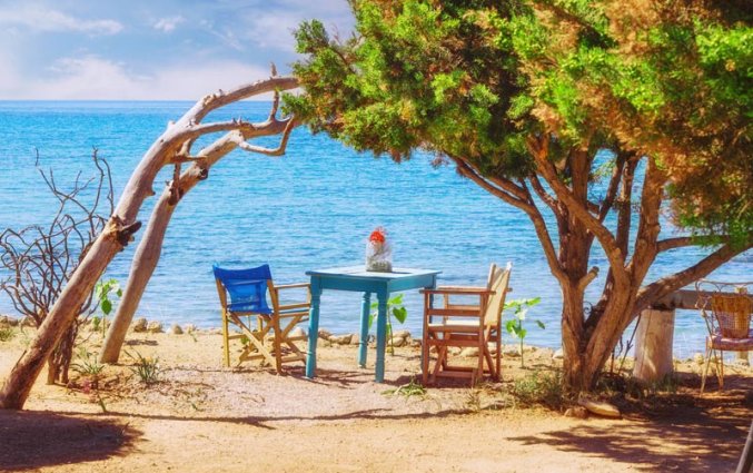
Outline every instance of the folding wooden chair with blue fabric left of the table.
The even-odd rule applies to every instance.
[[[249,269],[225,269],[215,265],[212,269],[222,308],[225,366],[230,366],[231,339],[241,339],[244,344],[238,365],[260,359],[261,365],[269,364],[281,373],[283,363],[300,361],[305,364],[306,355],[295,342],[306,339],[306,335],[293,336],[290,332],[308,319],[311,298],[308,283],[276,286],[269,265]],[[306,288],[307,300],[280,304],[280,290],[294,288]],[[267,292],[271,307],[267,304]],[[235,329],[230,329],[230,324]],[[271,338],[271,346],[268,338]]]

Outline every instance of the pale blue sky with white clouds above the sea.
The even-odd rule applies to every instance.
[[[196,100],[289,72],[293,30],[346,0],[0,0],[0,100]]]

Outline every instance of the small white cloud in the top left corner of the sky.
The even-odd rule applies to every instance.
[[[79,31],[90,35],[116,35],[123,29],[116,20],[86,20],[28,3],[12,9],[0,9],[0,24],[23,27],[32,31]]]

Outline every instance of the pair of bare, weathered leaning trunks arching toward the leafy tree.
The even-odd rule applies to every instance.
[[[122,327],[128,328],[130,318],[143,294],[143,288],[157,265],[161,253],[162,238],[175,207],[186,193],[208,177],[212,165],[236,148],[269,156],[283,155],[295,121],[293,117],[283,119],[277,117],[279,91],[295,89],[297,86],[298,82],[295,78],[277,76],[273,66],[270,78],[244,85],[229,91],[219,90],[210,93],[196,102],[178,121],[168,125],[168,128],[155,140],[131,174],[105,229],[97,236],[91,248],[69,278],[66,288],[56,300],[44,323],[39,327],[37,336],[11,369],[2,390],[0,390],[0,407],[23,407],[33,383],[58,339],[75,322],[78,308],[85,302],[87,295],[91,293],[110,262],[133,239],[133,234],[140,229],[141,221],[137,217],[143,201],[155,195],[152,189],[157,174],[167,166],[174,166],[174,178],[167,184],[155,206],[133,257],[131,275],[126,287],[126,294],[123,294],[123,304],[121,304],[108,333],[106,347],[110,349],[107,353],[103,351],[101,356],[105,358],[107,354],[115,352],[116,346],[117,352],[120,351],[122,344],[120,332],[122,331],[125,336]],[[275,97],[269,117],[264,122],[252,124],[242,119],[202,121],[214,110],[268,92],[274,92]],[[220,132],[224,132],[224,135],[209,146],[198,151],[194,149],[194,145],[200,137]],[[274,135],[283,136],[279,146],[274,149],[249,142],[254,138]],[[181,171],[184,164],[190,164],[190,166]],[[130,304],[125,304],[128,299],[130,299]],[[117,359],[117,353],[115,358]]]

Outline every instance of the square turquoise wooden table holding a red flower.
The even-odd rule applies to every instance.
[[[306,272],[311,277],[311,312],[308,321],[308,357],[306,377],[316,376],[316,343],[319,338],[319,303],[324,289],[355,290],[364,293],[360,313],[360,338],[358,339],[358,364],[366,366],[368,342],[368,315],[371,294],[376,294],[379,312],[377,317],[377,359],[374,380],[385,380],[385,346],[387,338],[387,299],[390,293],[419,288],[434,288],[438,270],[394,268],[393,273],[367,272],[364,266],[317,269]]]

